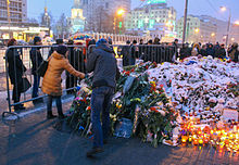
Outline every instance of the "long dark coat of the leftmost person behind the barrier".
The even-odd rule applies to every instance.
[[[12,85],[22,84],[22,77],[26,67],[23,64],[23,61],[20,58],[20,53],[16,49],[9,49],[7,51],[7,58],[9,63],[9,77]]]

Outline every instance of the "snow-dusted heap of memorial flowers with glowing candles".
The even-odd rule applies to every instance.
[[[90,79],[81,82],[68,118],[70,125],[83,136],[90,135],[91,127],[90,82]],[[124,67],[117,80],[110,114],[111,130],[117,137],[129,137],[126,131],[118,132],[118,127],[127,120],[130,136],[154,147],[160,142],[209,143],[237,152],[238,118],[225,117],[224,110],[238,113],[238,105],[237,63],[211,56],[188,58],[177,64],[139,63]]]

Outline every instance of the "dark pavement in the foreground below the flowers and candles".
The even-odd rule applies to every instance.
[[[67,112],[73,97],[63,99]],[[46,119],[46,105],[20,119],[0,122],[0,165],[236,165],[238,154],[211,147],[153,148],[138,138],[111,137],[104,152],[88,158],[91,141],[72,132],[65,120]],[[23,112],[24,113],[24,112]],[[55,107],[53,113],[56,114]],[[22,113],[20,113],[21,115]]]

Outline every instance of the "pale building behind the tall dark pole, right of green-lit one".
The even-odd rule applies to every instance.
[[[183,38],[184,31],[184,17],[177,21],[177,35]],[[211,22],[207,16],[188,15],[186,28],[186,42],[216,42],[217,26]]]

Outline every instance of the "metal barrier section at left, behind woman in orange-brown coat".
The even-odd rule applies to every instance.
[[[86,47],[67,47],[70,64],[75,69],[85,72]],[[4,63],[9,112],[4,112],[2,116],[5,113],[14,114],[12,113],[12,106],[18,109],[23,103],[37,102],[46,97],[39,90],[42,77],[37,74],[36,69],[42,60],[47,60],[55,49],[56,47],[53,46],[14,46],[5,50]],[[71,91],[77,86],[78,78],[67,72],[65,73],[62,76],[64,91]],[[28,85],[30,85],[29,89],[27,89]]]

